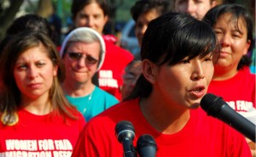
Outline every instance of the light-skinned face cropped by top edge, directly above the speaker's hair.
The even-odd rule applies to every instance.
[[[207,11],[216,6],[211,0],[175,0],[174,8],[177,12],[189,13],[196,19],[201,20]]]

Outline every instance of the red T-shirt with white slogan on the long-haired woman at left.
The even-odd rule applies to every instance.
[[[71,156],[85,124],[83,115],[77,115],[79,120],[65,122],[60,115],[33,115],[21,109],[15,126],[0,122],[0,156]]]

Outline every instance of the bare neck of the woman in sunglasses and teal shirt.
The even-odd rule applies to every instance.
[[[62,89],[65,94],[71,97],[83,97],[93,92],[95,85],[91,81],[86,83],[71,83],[70,81],[64,81]]]

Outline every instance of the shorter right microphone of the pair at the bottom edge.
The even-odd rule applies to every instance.
[[[154,137],[144,134],[137,139],[137,153],[140,157],[155,157],[156,143]]]

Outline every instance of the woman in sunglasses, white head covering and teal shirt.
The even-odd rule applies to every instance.
[[[102,36],[89,27],[71,31],[61,46],[61,58],[66,69],[62,83],[64,93],[86,121],[118,103],[111,94],[92,83],[92,77],[102,67],[105,52]]]

